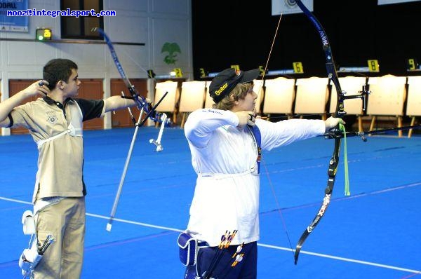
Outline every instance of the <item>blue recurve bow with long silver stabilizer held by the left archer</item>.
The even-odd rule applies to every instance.
[[[123,67],[120,64],[119,61],[119,57],[117,57],[116,51],[114,50],[114,46],[112,45],[111,40],[109,39],[109,37],[107,36],[107,34],[105,34],[104,30],[100,29],[100,28],[94,28],[93,31],[98,31],[100,34],[102,34],[102,36],[104,36],[105,42],[107,43],[107,46],[109,48],[109,51],[111,53],[112,59],[114,60],[114,64],[116,64],[117,70],[119,71],[119,74],[121,76],[121,79],[123,79],[124,84],[126,85],[128,91],[131,93],[131,97],[127,97],[130,99],[133,99],[137,106],[138,109],[140,110],[140,116],[139,116],[139,121],[136,123],[135,118],[133,118],[133,115],[131,115],[132,121],[135,124],[135,132],[131,141],[131,146],[129,148],[128,151],[128,156],[126,158],[126,163],[124,165],[123,168],[123,174],[121,175],[121,179],[120,179],[120,183],[119,183],[119,189],[117,190],[116,193],[116,197],[114,199],[114,204],[112,206],[112,211],[111,214],[109,216],[109,221],[107,224],[107,231],[111,231],[111,227],[112,227],[112,221],[114,219],[114,216],[116,214],[116,210],[117,210],[117,205],[119,204],[119,199],[120,199],[120,195],[121,195],[121,190],[123,189],[123,183],[124,183],[124,179],[126,177],[126,172],[128,169],[128,163],[130,163],[130,159],[131,159],[131,153],[133,151],[133,146],[135,143],[135,139],[136,139],[136,135],[138,134],[138,129],[139,127],[141,127],[146,121],[147,119],[150,117],[152,118],[153,121],[159,121],[159,119],[161,118],[161,116],[159,116],[159,114],[155,114],[154,116],[152,116],[152,114],[154,114],[156,107],[159,106],[159,104],[161,103],[161,101],[163,100],[163,98],[168,94],[168,92],[166,92],[161,99],[156,102],[156,104],[154,105],[154,107],[149,107],[149,104],[147,103],[147,100],[145,99],[145,97],[143,97],[142,95],[140,95],[138,93],[138,90],[136,90],[135,86],[133,86],[130,82],[130,80],[128,79],[128,77],[126,76],[126,73],[123,70]],[[124,98],[124,95],[121,96]],[[147,114],[145,116],[145,118],[140,121],[140,119],[142,118],[142,113],[145,111],[145,113]],[[131,111],[129,110],[130,114]],[[164,125],[164,121],[162,121],[162,125]]]

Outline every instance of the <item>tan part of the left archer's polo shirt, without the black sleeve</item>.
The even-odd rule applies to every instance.
[[[76,101],[65,112],[42,98],[16,107],[13,126],[29,130],[39,151],[33,202],[51,196],[83,196],[83,115]]]

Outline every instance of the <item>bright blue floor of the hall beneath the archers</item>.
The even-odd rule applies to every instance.
[[[176,239],[196,176],[183,130],[167,128],[161,152],[149,144],[158,132],[139,130],[111,232],[133,129],[84,133],[82,278],[183,278]],[[332,151],[332,140],[316,137],[263,154],[258,278],[421,278],[420,137],[348,139],[352,195],[344,196],[341,157],[333,200],[294,265],[289,243],[295,248],[319,210]],[[22,278],[18,258],[29,237],[20,219],[31,209],[36,152],[29,135],[0,137],[0,278]]]

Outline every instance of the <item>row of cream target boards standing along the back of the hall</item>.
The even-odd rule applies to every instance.
[[[378,76],[339,78],[342,90],[349,95],[356,95],[366,86],[370,90],[366,111],[363,111],[361,99],[345,100],[345,111],[359,119],[362,131],[362,117],[370,116],[370,130],[373,130],[377,116],[393,116],[398,127],[403,116],[410,116],[411,125],[415,117],[421,116],[421,76]],[[159,104],[157,111],[175,111],[182,114],[181,126],[189,112],[200,108],[209,108],[213,100],[208,94],[210,81],[185,81],[181,88],[175,81],[156,83],[155,102],[168,91],[167,97]],[[311,77],[308,79],[286,79],[279,77],[254,81],[255,93],[258,93],[255,110],[258,114],[326,114],[335,111],[337,96],[335,86],[330,86],[328,78]],[[178,109],[176,109],[178,107]],[[410,137],[410,131],[408,136]],[[401,133],[399,134],[401,136]]]

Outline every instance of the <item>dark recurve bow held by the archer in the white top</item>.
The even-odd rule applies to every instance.
[[[305,13],[307,18],[312,22],[314,27],[316,27],[317,32],[320,35],[321,43],[323,45],[323,51],[326,56],[326,70],[328,72],[328,78],[333,82],[336,88],[336,94],[338,95],[338,102],[336,104],[335,109],[335,117],[342,118],[346,114],[344,110],[344,93],[342,92],[342,89],[340,88],[340,83],[338,80],[338,74],[336,73],[335,63],[333,61],[333,55],[332,51],[330,50],[330,44],[328,41],[328,36],[326,35],[326,32],[324,31],[323,27],[321,26],[319,20],[314,17],[314,15],[307,9],[304,4],[302,4],[302,1],[295,0],[295,3],[300,7],[300,9]],[[335,128],[334,130],[337,130],[338,128]],[[317,212],[316,217],[314,217],[313,221],[307,226],[307,229],[302,233],[302,236],[300,237],[300,240],[298,240],[297,246],[295,247],[295,264],[297,264],[298,256],[300,254],[301,247],[309,234],[313,231],[313,229],[319,224],[321,218],[325,214],[328,205],[330,203],[330,198],[333,192],[333,186],[335,184],[335,177],[336,177],[336,171],[338,170],[338,163],[339,163],[339,153],[340,153],[340,143],[341,143],[341,137],[335,138],[335,147],[333,149],[333,155],[332,158],[330,158],[329,161],[329,167],[328,167],[328,183],[325,189],[325,196],[323,198],[323,203],[321,204],[321,207],[319,209],[319,212]]]

